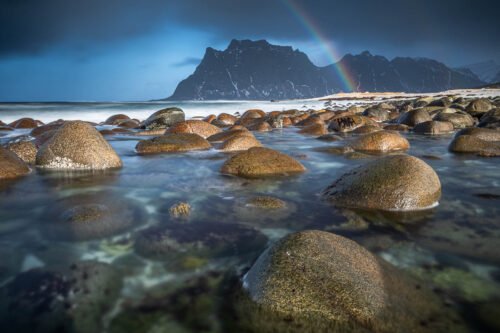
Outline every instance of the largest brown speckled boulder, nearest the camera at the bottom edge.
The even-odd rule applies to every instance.
[[[323,231],[285,237],[244,277],[237,313],[254,332],[464,332],[424,285]],[[245,327],[246,328],[246,327]]]

